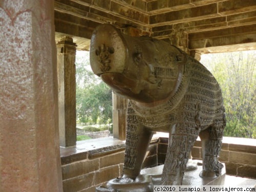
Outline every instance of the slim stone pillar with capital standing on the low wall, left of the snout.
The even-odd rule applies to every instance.
[[[60,146],[76,145],[76,44],[71,37],[57,43]]]

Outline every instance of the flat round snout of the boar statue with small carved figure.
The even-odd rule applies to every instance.
[[[122,73],[126,60],[123,37],[112,25],[98,26],[91,38],[90,64],[94,74]]]

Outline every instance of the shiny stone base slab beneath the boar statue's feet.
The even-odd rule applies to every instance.
[[[202,178],[200,173],[202,171],[202,163],[198,162],[198,168],[190,171],[186,171],[184,174],[182,185],[191,186],[204,186],[204,185],[223,185],[225,181],[226,168],[223,164],[221,174],[216,178]],[[162,177],[163,165],[159,165],[152,168],[142,169],[136,180],[132,179],[112,179],[107,183],[107,187],[100,186],[96,188],[96,191],[140,191],[150,192],[153,191],[154,185],[160,185]]]

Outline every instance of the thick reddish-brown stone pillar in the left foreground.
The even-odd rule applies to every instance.
[[[54,2],[0,2],[0,191],[62,191]]]

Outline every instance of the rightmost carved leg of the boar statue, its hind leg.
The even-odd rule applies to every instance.
[[[221,151],[223,125],[210,126],[200,133],[203,152],[203,171],[201,177],[218,177],[223,165],[218,161]]]

